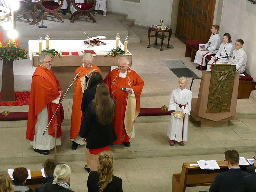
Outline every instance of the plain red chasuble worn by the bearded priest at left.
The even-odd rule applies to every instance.
[[[53,113],[58,107],[58,104],[51,102],[60,95],[58,91],[61,91],[60,83],[53,74],[53,71],[38,65],[32,76],[26,139],[29,139],[30,141],[34,140],[37,114],[42,111],[46,105],[48,109],[48,122],[50,122]],[[57,137],[60,137],[61,122],[64,119],[62,105],[60,105],[57,112],[59,114],[57,117]],[[48,128],[48,134],[53,137],[55,137],[55,119],[56,118],[53,117]]]

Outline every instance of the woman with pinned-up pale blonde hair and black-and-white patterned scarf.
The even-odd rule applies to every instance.
[[[52,183],[47,183],[44,187],[44,192],[70,192],[72,191],[69,185],[71,170],[66,164],[57,165],[53,171],[54,180]]]

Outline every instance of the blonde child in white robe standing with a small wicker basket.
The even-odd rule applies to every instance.
[[[172,146],[177,141],[183,146],[183,141],[188,140],[188,115],[191,110],[192,92],[186,89],[188,79],[186,77],[179,78],[179,88],[173,89],[170,98],[168,110],[171,111],[171,119],[167,136],[170,138],[169,144]],[[185,116],[177,119],[173,116],[175,111],[182,111]]]

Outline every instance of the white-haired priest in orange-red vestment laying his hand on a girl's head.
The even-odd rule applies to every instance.
[[[97,66],[93,65],[93,55],[91,53],[85,53],[83,55],[83,64],[76,69],[76,74],[79,73],[79,71],[81,72],[75,81],[70,126],[70,139],[72,141],[71,149],[73,150],[77,149],[78,144],[85,145],[80,136],[78,136],[81,126],[81,117],[83,116],[81,103],[84,90],[87,88],[87,82],[92,73],[99,72],[101,74],[101,70]]]

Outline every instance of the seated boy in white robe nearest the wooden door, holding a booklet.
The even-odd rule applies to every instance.
[[[206,62],[205,58],[207,55],[216,54],[219,50],[219,46],[221,44],[221,39],[218,34],[219,31],[219,25],[213,25],[211,32],[212,35],[208,42],[206,43],[206,48],[198,50],[196,52],[195,60],[194,62],[198,64],[196,69],[198,70],[206,70]]]

